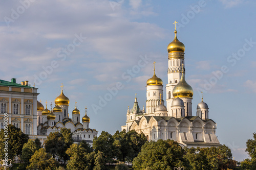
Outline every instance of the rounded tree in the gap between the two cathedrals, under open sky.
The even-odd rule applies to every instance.
[[[93,139],[93,149],[96,153],[98,151],[102,152],[105,161],[111,162],[114,157],[113,151],[115,150],[113,143],[113,136],[108,132],[102,131],[99,137]]]

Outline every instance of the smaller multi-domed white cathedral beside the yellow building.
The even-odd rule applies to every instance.
[[[97,136],[98,132],[95,129],[90,129],[90,118],[87,115],[82,117],[82,124],[80,123],[80,111],[75,105],[72,111],[72,118],[69,118],[69,98],[63,93],[61,85],[61,93],[55,99],[55,107],[51,110],[44,108],[40,102],[37,101],[37,135],[49,135],[51,132],[60,131],[61,128],[68,128],[73,132],[73,139],[75,141],[86,140],[92,143],[93,138]]]

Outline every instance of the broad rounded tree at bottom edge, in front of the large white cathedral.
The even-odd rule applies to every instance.
[[[174,169],[175,166],[187,166],[183,158],[184,149],[174,140],[146,142],[141,152],[133,160],[134,169]]]

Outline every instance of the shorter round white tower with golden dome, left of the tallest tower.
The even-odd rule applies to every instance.
[[[163,81],[158,78],[155,73],[155,63],[154,64],[154,74],[153,77],[146,81],[146,114],[151,114],[155,112],[156,106],[162,101],[161,95],[163,96]]]

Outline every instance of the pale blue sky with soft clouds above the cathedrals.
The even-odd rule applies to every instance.
[[[145,105],[154,61],[165,90],[176,20],[193,115],[203,91],[219,141],[241,161],[256,132],[255,8],[252,0],[1,1],[0,79],[35,83],[44,106],[63,83],[70,117],[77,101],[90,128],[114,134],[135,93]]]

